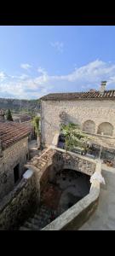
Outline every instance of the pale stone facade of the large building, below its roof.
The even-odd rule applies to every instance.
[[[64,112],[68,122],[79,124],[82,129],[84,122],[89,120],[87,131],[91,126],[91,132],[93,129],[95,134],[101,123],[108,122],[115,127],[115,101],[112,100],[42,101],[41,106],[42,143],[47,146],[52,143],[55,133],[60,131],[60,115]],[[115,129],[112,139],[115,144]]]

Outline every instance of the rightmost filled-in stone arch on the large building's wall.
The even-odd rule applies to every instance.
[[[97,133],[101,134],[103,132],[103,135],[112,136],[113,133],[113,126],[109,122],[103,122],[101,125],[98,126]]]

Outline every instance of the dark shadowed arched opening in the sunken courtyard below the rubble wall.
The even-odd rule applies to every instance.
[[[54,172],[55,171],[55,172]],[[40,178],[40,202],[59,215],[89,194],[89,175],[49,166]]]

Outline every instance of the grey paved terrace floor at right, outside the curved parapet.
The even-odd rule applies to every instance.
[[[79,230],[115,230],[115,168],[102,165],[102,176],[99,206]]]

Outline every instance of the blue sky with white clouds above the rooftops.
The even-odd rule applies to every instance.
[[[115,89],[115,26],[0,26],[0,97]]]

